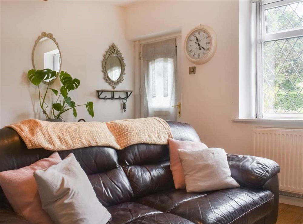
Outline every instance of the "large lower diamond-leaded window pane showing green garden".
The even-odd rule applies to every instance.
[[[264,113],[303,113],[303,36],[263,43]]]

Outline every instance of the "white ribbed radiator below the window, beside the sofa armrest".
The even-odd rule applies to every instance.
[[[280,190],[303,194],[303,129],[254,128],[254,155],[276,161]]]

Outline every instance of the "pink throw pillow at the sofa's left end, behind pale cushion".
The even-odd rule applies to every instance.
[[[0,172],[0,185],[14,211],[33,224],[53,224],[42,209],[38,188],[33,176],[41,170],[62,161],[58,152],[20,169]]]

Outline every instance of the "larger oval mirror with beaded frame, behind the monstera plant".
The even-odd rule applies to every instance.
[[[60,73],[62,66],[62,57],[59,45],[51,33],[42,32],[35,41],[32,51],[32,64],[34,69],[52,69]],[[43,83],[47,84],[55,81],[53,77]]]

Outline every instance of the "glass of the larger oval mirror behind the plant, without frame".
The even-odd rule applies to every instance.
[[[35,46],[33,59],[35,69],[52,69],[57,72],[60,71],[61,55],[58,46],[52,39],[48,37],[44,37],[39,40]],[[52,79],[55,79],[55,77]],[[52,79],[47,81],[49,82]]]

